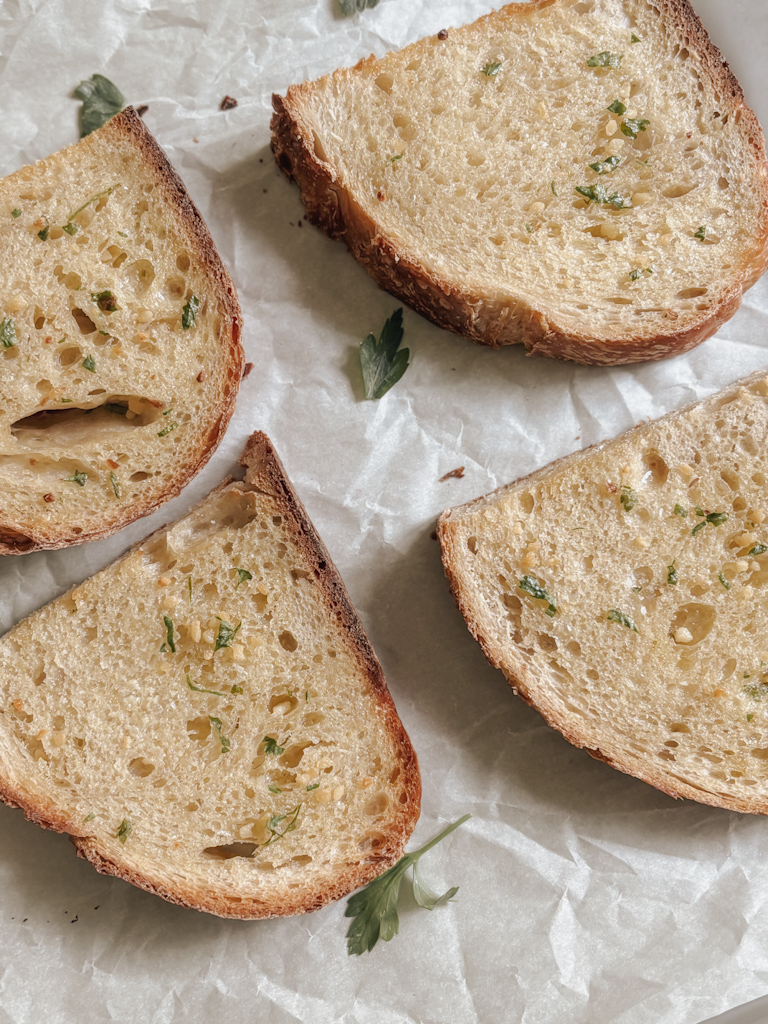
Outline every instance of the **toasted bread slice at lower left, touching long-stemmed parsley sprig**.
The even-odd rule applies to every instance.
[[[0,640],[0,795],[227,918],[313,910],[402,854],[416,755],[268,439],[244,481]]]

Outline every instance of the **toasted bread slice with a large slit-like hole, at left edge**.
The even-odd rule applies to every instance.
[[[234,287],[132,110],[0,180],[0,554],[176,495],[242,375]]]

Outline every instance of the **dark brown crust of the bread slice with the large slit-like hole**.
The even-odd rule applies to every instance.
[[[234,411],[238,388],[243,376],[243,314],[238,302],[238,295],[229,273],[221,261],[211,233],[206,226],[200,211],[189,198],[184,183],[172,167],[167,156],[145,127],[141,118],[132,106],[126,108],[109,121],[103,128],[97,129],[105,138],[128,139],[138,151],[140,160],[156,183],[165,194],[165,201],[175,212],[178,225],[187,234],[189,248],[195,252],[198,264],[203,267],[211,289],[222,307],[221,353],[226,360],[226,383],[221,387],[218,408],[212,418],[196,458],[190,458],[186,465],[181,466],[175,475],[166,483],[165,489],[154,499],[137,502],[132,507],[123,507],[121,515],[110,522],[104,522],[100,528],[91,528],[87,532],[75,534],[61,525],[55,527],[32,526],[3,518],[0,510],[0,555],[22,555],[31,551],[50,551],[70,545],[85,544],[88,541],[101,540],[111,534],[122,529],[129,523],[150,515],[171,498],[175,498],[181,489],[196,476],[211,458],[221,438],[224,436],[229,419]],[[77,143],[75,143],[77,145]],[[32,520],[32,516],[30,517]]]

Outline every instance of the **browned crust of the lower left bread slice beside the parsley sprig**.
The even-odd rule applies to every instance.
[[[266,434],[258,432],[251,435],[246,443],[241,464],[246,467],[245,484],[247,489],[266,495],[276,502],[281,512],[288,520],[293,539],[309,563],[314,566],[314,577],[326,600],[329,613],[336,618],[347,634],[349,649],[369,683],[372,700],[383,716],[384,731],[392,738],[393,748],[398,754],[402,772],[401,777],[397,780],[400,799],[393,802],[390,821],[381,826],[380,830],[384,835],[385,841],[383,845],[375,853],[368,854],[360,863],[339,871],[337,877],[331,882],[326,882],[322,889],[295,893],[284,892],[280,898],[269,900],[230,899],[226,893],[217,893],[208,889],[164,885],[157,880],[157,874],[162,873],[157,870],[154,872],[155,878],[148,878],[137,868],[128,866],[124,861],[116,858],[114,851],[105,850],[93,837],[82,835],[82,822],[73,822],[52,804],[31,803],[18,787],[1,778],[0,801],[9,807],[19,808],[26,818],[43,828],[68,833],[78,856],[91,863],[101,874],[113,874],[123,879],[138,889],[143,889],[145,892],[160,896],[169,903],[175,903],[178,906],[202,910],[219,918],[255,921],[317,910],[328,903],[342,899],[391,867],[402,856],[406,843],[419,818],[421,776],[416,752],[397,715],[381,666],[362,629],[359,617],[349,601],[336,566],[286,476],[285,469]],[[203,503],[213,495],[225,490],[231,483],[231,478],[222,481],[203,499]],[[190,512],[194,512],[194,509],[190,509]],[[157,537],[172,528],[173,525],[171,523],[169,526],[164,526],[152,534],[151,537]],[[147,540],[148,538],[144,538],[143,541],[134,545],[118,561],[130,557],[132,552],[141,548]],[[57,598],[57,600],[59,599]]]

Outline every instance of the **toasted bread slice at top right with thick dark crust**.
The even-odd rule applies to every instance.
[[[763,134],[687,0],[511,4],[273,105],[309,219],[485,345],[660,358],[768,263]]]

